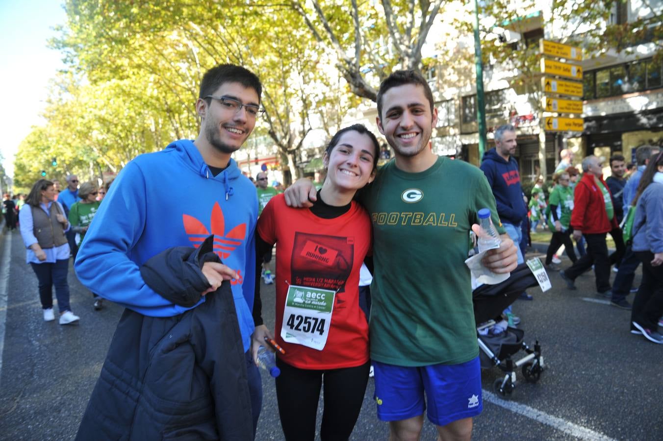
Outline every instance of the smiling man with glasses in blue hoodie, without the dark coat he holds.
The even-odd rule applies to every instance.
[[[261,92],[258,77],[244,68],[224,64],[208,70],[196,101],[201,118],[196,140],[177,140],[127,164],[90,224],[75,265],[80,281],[99,296],[147,317],[183,315],[202,305],[204,294],[230,280],[246,353],[254,436],[262,388],[248,351],[254,330],[258,200],[255,186],[242,175],[231,154],[247,140],[263,113]],[[193,307],[171,303],[141,277],[141,266],[153,256],[173,247],[198,248],[211,234],[213,251],[223,264],[202,266],[210,289]],[[146,332],[145,327],[141,332]],[[151,352],[127,357],[140,361],[151,357]],[[186,367],[172,366],[172,371],[179,369]],[[101,379],[103,375],[102,371]],[[161,392],[166,395],[161,398],[167,399],[168,391]]]

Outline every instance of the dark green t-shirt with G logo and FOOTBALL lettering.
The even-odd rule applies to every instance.
[[[397,366],[475,358],[467,237],[482,208],[504,233],[483,172],[440,157],[406,173],[392,161],[360,197],[373,224],[371,358]]]

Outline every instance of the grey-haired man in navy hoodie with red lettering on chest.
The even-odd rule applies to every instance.
[[[495,129],[495,148],[483,155],[480,167],[493,189],[499,219],[516,245],[522,241],[520,223],[527,216],[527,205],[522,199],[518,162],[513,157],[517,145],[516,128],[511,124],[499,126]],[[519,246],[516,248],[518,264],[522,264],[522,252]],[[522,298],[532,299],[527,293],[523,293]],[[511,307],[507,308],[507,312],[511,313]]]

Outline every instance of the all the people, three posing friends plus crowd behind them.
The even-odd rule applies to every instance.
[[[253,72],[215,66],[200,84],[195,140],[135,158],[112,187],[79,187],[68,175],[63,191],[40,179],[25,199],[20,228],[44,320],[54,320],[52,285],[60,324],[80,320],[69,305],[72,257],[94,309],[104,299],[125,307],[78,440],[255,438],[261,347],[280,348],[275,384],[286,440],[314,439],[321,391],[321,438],[348,439],[371,370],[377,415],[392,439],[418,439],[425,413],[440,439],[469,440],[483,401],[463,262],[470,232],[482,233],[481,209],[489,209],[499,234],[498,248],[482,260],[494,273],[524,262],[525,236],[539,223],[553,232],[546,268],[560,269],[553,262],[562,246],[573,262],[560,271],[570,289],[593,266],[605,295],[611,263],[621,261],[620,277],[631,268],[629,256],[643,262],[631,332],[663,343],[658,150],[638,149],[643,168],[621,195],[603,181],[599,158],[584,158],[579,177],[565,151],[554,187],[546,195],[537,182],[528,202],[514,158],[516,128],[495,130],[495,148],[480,168],[438,156],[430,148],[438,111],[428,82],[399,70],[377,93],[377,127],[391,150],[362,124],[342,128],[326,147],[317,185],[300,179],[282,193],[267,172],[249,179],[231,157],[263,113],[262,91]],[[377,168],[385,152],[394,159]],[[623,244],[620,215],[631,220],[632,234],[608,256],[608,232]],[[572,238],[587,244],[579,259]],[[273,246],[276,271],[269,273]],[[261,301],[261,285],[271,283],[274,329],[263,323]],[[631,309],[616,292],[612,303]],[[509,324],[520,321],[511,306],[504,315]]]

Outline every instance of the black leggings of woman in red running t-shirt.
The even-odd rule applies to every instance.
[[[287,441],[312,441],[324,375],[324,409],[320,439],[350,438],[364,401],[371,362],[356,368],[299,369],[276,359],[281,374],[276,377],[276,399],[283,434]]]

